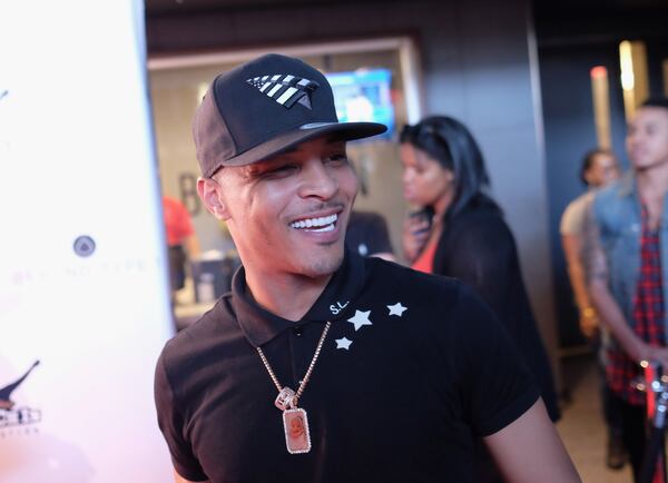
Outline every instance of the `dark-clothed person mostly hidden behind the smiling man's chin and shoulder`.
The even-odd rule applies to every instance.
[[[395,262],[385,218],[373,211],[351,213],[345,243],[363,257],[379,257]]]

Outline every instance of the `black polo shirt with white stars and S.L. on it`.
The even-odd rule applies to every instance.
[[[277,390],[296,390],[332,327],[299,406],[313,447],[289,454]],[[477,437],[523,414],[538,390],[503,327],[454,279],[346,252],[299,322],[259,307],[243,268],[233,290],[169,341],[158,422],[187,480],[468,482]]]

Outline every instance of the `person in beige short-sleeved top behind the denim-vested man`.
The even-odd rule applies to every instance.
[[[561,233],[561,246],[566,257],[568,276],[573,290],[574,302],[578,307],[580,331],[589,338],[600,352],[600,334],[598,316],[589,290],[587,289],[587,277],[582,266],[582,243],[584,234],[584,220],[587,209],[593,199],[596,188],[609,185],[619,178],[619,161],[615,154],[608,149],[592,149],[584,155],[580,168],[580,179],[588,190],[573,199],[563,211],[559,230]],[[606,335],[607,336],[607,335]],[[611,397],[605,378],[605,352],[600,352],[599,362],[601,366],[601,402],[603,416],[608,425],[608,444],[606,464],[611,470],[620,470],[626,462],[623,451],[622,428],[620,410],[616,398]]]

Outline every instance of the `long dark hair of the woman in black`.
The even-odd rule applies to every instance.
[[[431,116],[406,125],[400,142],[422,149],[454,175],[455,193],[448,216],[464,208],[490,185],[478,142],[466,127],[446,116]]]

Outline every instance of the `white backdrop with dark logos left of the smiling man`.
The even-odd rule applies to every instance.
[[[145,65],[139,1],[0,0],[0,407],[40,362],[0,408],[2,483],[171,481]]]

